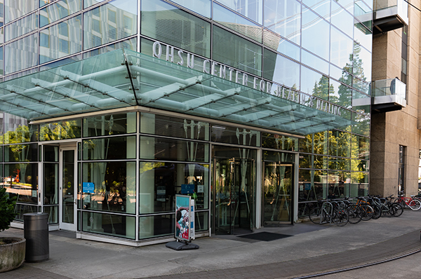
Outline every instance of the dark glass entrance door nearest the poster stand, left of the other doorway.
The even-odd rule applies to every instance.
[[[254,161],[214,158],[214,231],[248,233],[253,228]]]

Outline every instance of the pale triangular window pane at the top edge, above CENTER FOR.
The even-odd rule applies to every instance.
[[[243,1],[230,1],[218,0],[222,5],[231,8],[241,15],[245,15],[250,20],[254,20],[262,24],[262,5],[263,0],[243,0]]]

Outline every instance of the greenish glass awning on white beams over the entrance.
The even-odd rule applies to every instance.
[[[142,106],[298,135],[354,123],[132,50],[4,81],[0,100],[0,111],[29,121]]]

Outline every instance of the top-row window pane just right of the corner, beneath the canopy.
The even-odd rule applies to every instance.
[[[209,140],[209,123],[142,113],[140,132],[189,140]]]

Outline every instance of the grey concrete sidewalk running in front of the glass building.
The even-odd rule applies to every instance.
[[[272,241],[238,236],[199,238],[199,250],[163,244],[127,247],[50,233],[50,259],[24,263],[0,278],[297,278],[359,266],[421,250],[421,211],[344,227],[300,223],[261,231],[288,235]],[[9,229],[1,236],[23,235]]]

